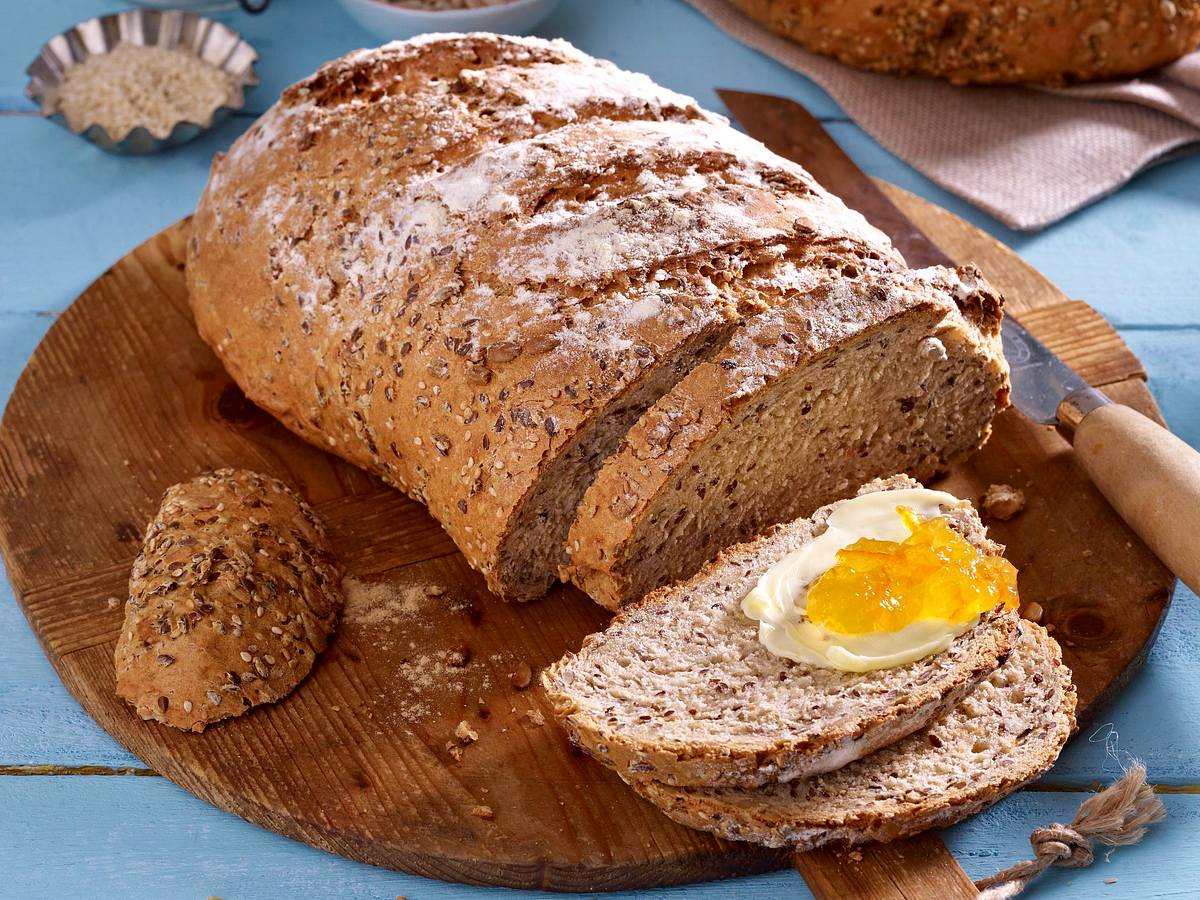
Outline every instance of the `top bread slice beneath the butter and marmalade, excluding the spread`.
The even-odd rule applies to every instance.
[[[904,476],[862,492],[916,486]],[[542,676],[571,739],[624,776],[754,787],[840,768],[923,727],[1008,655],[994,611],[940,654],[866,673],[774,655],[740,608],[760,576],[824,530],[836,504],[721,553],[690,581],[626,607]],[[968,503],[952,526],[989,553]]]

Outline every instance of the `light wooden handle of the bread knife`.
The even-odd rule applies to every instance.
[[[1200,594],[1200,452],[1118,403],[1087,413],[1075,426],[1074,444],[1121,518]]]

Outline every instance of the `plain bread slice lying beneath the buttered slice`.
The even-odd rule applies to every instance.
[[[1074,727],[1058,644],[1021,622],[1008,661],[958,707],[836,772],[751,790],[626,780],[676,822],[728,840],[799,851],[889,841],[953,824],[1043,774]]]

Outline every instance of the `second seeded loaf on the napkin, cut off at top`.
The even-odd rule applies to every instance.
[[[1105,80],[1200,44],[1198,0],[733,0],[803,47],[859,68],[956,84]]]

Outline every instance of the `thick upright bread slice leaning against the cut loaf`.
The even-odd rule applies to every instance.
[[[821,284],[751,319],[635,425],[563,577],[616,610],[893,472],[928,479],[1008,404],[1002,299],[972,268]]]

